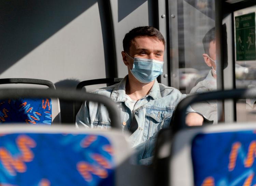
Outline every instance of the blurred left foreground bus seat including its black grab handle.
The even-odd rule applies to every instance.
[[[1,175],[0,176],[0,185],[8,185],[8,184],[3,184],[3,183],[8,183],[10,181],[10,179],[13,180],[13,182],[11,182],[11,183],[14,183],[16,181],[20,183],[21,181],[24,181],[24,182],[22,182],[23,185],[38,185],[38,184],[32,184],[32,183],[25,184],[25,180],[27,179],[27,177],[23,177],[23,175],[27,176],[27,175],[25,175],[25,172],[24,172],[24,174],[23,173],[18,174],[18,173],[20,173],[20,172],[18,172],[18,170],[20,170],[18,168],[21,167],[21,165],[26,165],[27,172],[28,172],[28,170],[30,170],[29,171],[30,177],[33,177],[34,175],[35,175],[35,177],[37,177],[37,175],[40,174],[40,172],[41,172],[41,175],[42,175],[41,179],[46,178],[46,180],[43,180],[43,181],[47,181],[45,183],[47,183],[48,185],[51,180],[57,180],[57,181],[61,180],[62,181],[62,179],[63,180],[73,179],[73,174],[77,175],[77,169],[75,167],[76,165],[73,167],[70,165],[68,168],[71,170],[69,170],[66,167],[63,167],[62,165],[59,166],[59,164],[66,164],[66,161],[69,161],[69,160],[72,160],[72,161],[77,160],[78,158],[74,158],[75,155],[72,155],[72,152],[70,152],[70,150],[68,148],[74,149],[75,153],[76,153],[79,149],[81,149],[80,148],[81,139],[80,139],[80,141],[76,140],[76,137],[78,136],[77,138],[81,138],[81,135],[89,135],[89,136],[84,136],[84,137],[86,137],[86,141],[85,141],[85,143],[83,143],[83,146],[84,146],[84,148],[82,149],[83,156],[80,155],[79,158],[81,158],[81,157],[84,158],[86,160],[86,162],[87,163],[89,162],[90,164],[88,166],[88,164],[83,163],[81,165],[82,168],[81,167],[80,168],[82,170],[84,170],[87,167],[88,169],[87,169],[87,171],[82,171],[82,173],[80,173],[80,174],[82,175],[82,178],[86,177],[86,179],[87,179],[87,176],[94,177],[96,175],[96,179],[95,179],[96,181],[93,183],[86,182],[83,184],[81,184],[80,182],[79,183],[74,182],[73,184],[69,184],[69,185],[120,185],[120,186],[147,185],[147,186],[153,186],[153,184],[154,184],[154,182],[153,182],[154,174],[153,173],[154,172],[152,171],[152,168],[149,166],[136,165],[137,152],[134,152],[134,150],[132,150],[132,148],[131,148],[131,144],[126,141],[129,139],[130,134],[127,134],[126,131],[122,130],[122,126],[120,125],[120,115],[118,112],[118,108],[116,107],[116,104],[113,102],[112,99],[102,96],[102,95],[98,95],[98,94],[91,94],[91,93],[87,93],[87,92],[73,91],[73,90],[65,90],[64,91],[64,90],[51,90],[51,89],[47,89],[47,90],[46,89],[0,89],[0,97],[2,97],[2,98],[8,98],[8,97],[16,98],[16,97],[24,97],[24,96],[28,96],[28,97],[47,96],[47,97],[52,97],[52,98],[58,97],[59,99],[62,99],[62,100],[79,100],[79,101],[91,100],[94,102],[102,103],[109,110],[109,116],[110,116],[112,127],[109,130],[103,130],[103,129],[95,129],[95,128],[94,129],[90,129],[90,128],[76,129],[72,126],[65,126],[65,125],[51,126],[51,127],[47,127],[47,126],[30,127],[28,125],[22,125],[20,127],[19,125],[14,126],[11,124],[0,125],[0,141],[1,142],[4,142],[6,140],[8,141],[7,143],[5,143],[8,145],[6,145],[6,147],[4,146],[3,148],[1,147],[1,143],[0,143],[0,157],[1,157],[1,154],[3,155],[3,157],[7,157],[7,159],[5,159],[5,160],[9,163],[8,164],[8,165],[10,165],[9,168],[11,167],[12,170],[14,169],[16,171],[15,172],[16,176],[18,176],[17,179],[15,177],[9,176],[9,174],[7,174],[6,170],[3,169],[3,166],[1,166],[1,158],[0,158],[0,175]],[[25,144],[18,143],[18,140],[16,140],[18,138],[17,134],[26,135],[26,136],[29,136],[30,138],[33,137],[33,140],[35,141],[35,143],[37,142],[36,140],[38,140],[38,143],[36,143],[37,145],[34,145],[35,143],[31,143],[31,142],[28,142]],[[11,141],[13,141],[13,143],[14,143],[14,139],[10,140],[10,138],[11,138],[11,137],[9,137],[10,135],[14,136],[13,138],[15,138],[16,144],[22,146],[23,148],[15,147],[15,145],[13,145],[11,143]],[[47,138],[45,137],[45,135],[47,135]],[[8,137],[8,139],[2,138],[2,137],[6,137],[6,136]],[[55,136],[57,136],[57,137],[55,137]],[[106,138],[109,141],[110,146],[104,145],[104,148],[103,148],[103,146],[100,144],[100,142],[96,141],[96,139],[98,139],[98,136],[100,136],[100,138],[102,138],[102,139]],[[63,140],[58,139],[60,137]],[[87,137],[88,137],[88,140],[87,140]],[[55,138],[57,138],[57,139],[55,139]],[[73,146],[68,145],[65,147],[65,149],[59,147],[62,143],[70,141],[70,139],[71,139],[71,142],[76,140],[77,143],[74,144]],[[103,141],[106,142],[107,140],[104,139]],[[55,145],[55,144],[57,144],[57,145]],[[90,144],[93,144],[95,146],[97,153],[100,152],[100,153],[106,154],[107,152],[105,152],[105,151],[110,152],[110,155],[112,155],[112,162],[113,162],[113,164],[111,164],[111,165],[114,165],[114,167],[112,166],[113,170],[110,170],[108,172],[108,171],[105,171],[102,169],[97,169],[98,171],[96,171],[95,166],[98,168],[101,168],[100,165],[104,166],[107,164],[104,163],[106,161],[103,161],[103,158],[100,158],[100,156],[98,156],[98,158],[96,157],[96,159],[98,159],[99,163],[95,162],[97,160],[95,160],[95,161],[91,160],[92,154],[90,154],[91,151],[89,151],[89,149],[88,149],[88,147],[89,147],[88,145],[90,145]],[[87,146],[87,148],[86,148],[86,146]],[[38,147],[38,150],[34,151],[33,149],[36,147]],[[110,148],[110,147],[112,147],[112,148]],[[48,148],[48,149],[50,149],[50,151],[54,151],[54,152],[47,153],[47,152],[41,150],[43,148],[46,148],[46,149]],[[6,150],[1,151],[1,149],[8,149],[9,154],[6,153]],[[22,151],[22,149],[24,151]],[[33,152],[33,156],[31,156],[31,154],[29,155],[28,152]],[[113,154],[111,152],[113,152]],[[23,153],[22,155],[26,154],[26,157],[32,157],[32,158],[37,156],[35,153],[41,153],[42,155],[39,155],[41,157],[41,159],[39,162],[37,162],[38,170],[35,168],[29,169],[29,166],[32,163],[24,161],[24,159],[20,158],[20,156],[17,155],[17,153],[19,153],[19,154]],[[12,156],[9,156],[9,155],[12,155]],[[58,158],[60,156],[65,157],[65,159],[63,160],[63,161],[65,161],[65,163],[63,163],[63,161],[62,162],[58,161]],[[47,160],[47,159],[49,159],[49,160]],[[53,159],[53,161],[56,160],[57,165],[55,163],[52,163],[52,159]],[[62,160],[63,158],[61,157],[60,159]],[[110,161],[111,159],[108,159],[108,160]],[[47,165],[47,162],[49,162],[48,165]],[[91,164],[93,166],[91,166]],[[7,165],[7,164],[5,164],[5,165]],[[60,168],[57,169],[54,167],[53,168],[53,170],[55,170],[54,174],[52,172],[51,172],[52,174],[44,173],[44,171],[47,172],[48,169],[50,169],[52,166],[60,167]],[[25,167],[25,166],[23,166],[23,167]],[[24,169],[22,169],[22,170],[25,171]],[[31,173],[32,172],[31,170],[33,170],[33,173]],[[58,170],[58,171],[56,171],[56,170]],[[73,171],[73,172],[71,172],[71,171]],[[34,172],[36,172],[36,173],[34,174]],[[65,172],[67,172],[67,174]],[[105,178],[107,180],[103,180],[106,175],[106,172],[108,173],[109,177]],[[113,184],[113,181],[111,180],[111,179],[113,179],[113,176],[112,176],[113,172],[114,172],[115,184]],[[3,177],[2,174],[5,177]],[[98,177],[101,176],[100,177],[101,179],[98,179],[97,176]],[[7,180],[6,177],[8,177],[9,180]],[[28,180],[30,180],[30,179],[32,179],[32,178],[28,178]],[[76,181],[77,179],[75,178],[74,180]],[[84,182],[84,180],[83,180],[83,182]],[[108,180],[109,180],[109,182],[108,182]],[[80,177],[80,181],[81,181],[81,177]],[[56,183],[56,182],[54,182],[54,183]],[[39,181],[38,181],[38,183],[39,183]],[[60,182],[59,184],[52,184],[52,185],[68,185],[65,183],[63,184],[63,182]],[[69,183],[69,182],[67,182],[67,183]],[[19,184],[19,185],[22,185],[22,184]],[[41,182],[40,182],[40,184],[42,185]]]

